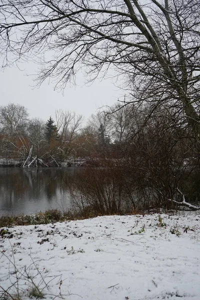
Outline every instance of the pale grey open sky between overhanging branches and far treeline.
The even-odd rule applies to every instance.
[[[24,105],[30,117],[40,117],[47,120],[54,117],[55,109],[66,109],[83,114],[86,120],[91,113],[103,105],[112,105],[124,94],[111,79],[96,80],[91,86],[84,84],[81,73],[76,77],[76,86],[67,85],[64,94],[54,91],[53,84],[44,82],[39,88],[33,88],[32,74],[36,65],[26,63],[16,67],[0,69],[1,96],[0,105],[10,102]]]

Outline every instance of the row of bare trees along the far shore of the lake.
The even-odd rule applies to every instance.
[[[140,112],[138,112],[140,113]],[[83,116],[56,110],[54,119],[29,118],[19,104],[0,106],[0,156],[32,156],[62,161],[69,157],[118,157],[135,131],[136,110],[115,104],[98,110],[83,125]]]

